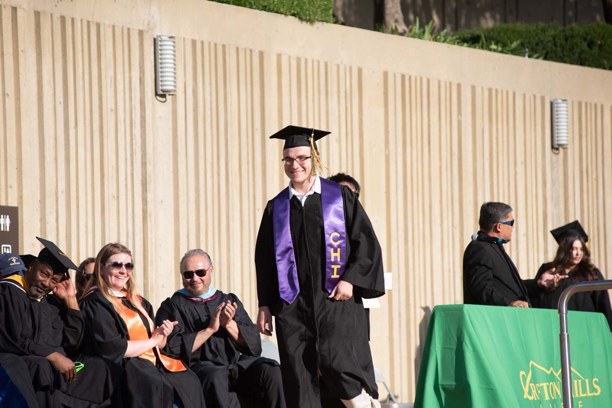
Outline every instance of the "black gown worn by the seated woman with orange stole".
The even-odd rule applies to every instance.
[[[149,322],[129,301],[123,304],[136,311],[144,323],[149,336]],[[144,299],[144,310],[151,319],[155,318],[151,304]],[[174,392],[181,398],[185,408],[205,407],[200,392],[200,382],[189,369],[173,373],[166,370],[157,359],[157,366],[140,357],[126,357],[127,341],[130,336],[124,320],[114,310],[113,305],[97,292],[86,295],[80,302],[85,317],[88,339],[88,351],[100,355],[124,367],[122,392],[124,405],[130,408],[170,408]]]

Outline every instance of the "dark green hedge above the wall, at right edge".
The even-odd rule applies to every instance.
[[[502,48],[512,44],[513,54],[565,62],[586,67],[612,69],[612,25],[594,23],[561,27],[556,23],[500,24],[490,28],[460,31],[455,34],[468,46],[495,43]],[[517,43],[518,42],[518,43]]]

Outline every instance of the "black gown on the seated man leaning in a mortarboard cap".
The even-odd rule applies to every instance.
[[[31,299],[15,283],[0,283],[0,352],[21,357],[28,366],[41,407],[95,407],[111,398],[121,367],[108,360],[81,354],[84,337],[80,310],[64,307],[48,295]],[[73,382],[45,357],[53,352],[83,363]]]

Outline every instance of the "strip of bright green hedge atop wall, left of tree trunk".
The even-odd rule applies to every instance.
[[[336,23],[334,0],[212,0],[248,9],[294,16],[300,20]]]

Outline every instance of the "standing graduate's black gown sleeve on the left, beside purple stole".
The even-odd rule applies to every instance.
[[[257,275],[257,299],[259,307],[274,307],[278,294],[278,272],[274,255],[274,230],[272,229],[272,200],[267,203],[255,243],[255,271]]]

